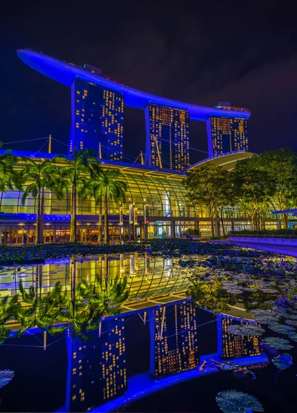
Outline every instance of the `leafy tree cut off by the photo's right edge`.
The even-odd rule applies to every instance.
[[[290,148],[267,151],[260,155],[261,166],[274,182],[274,202],[278,211],[296,208],[297,153]],[[284,227],[288,227],[288,214],[284,213]]]

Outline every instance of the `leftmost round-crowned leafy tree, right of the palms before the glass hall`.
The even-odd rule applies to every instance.
[[[223,207],[232,200],[232,192],[223,193],[223,188],[229,182],[228,172],[216,165],[205,165],[187,173],[183,184],[187,189],[187,199],[194,207],[201,205],[207,210],[214,237],[214,219],[221,210],[223,220]],[[221,189],[222,188],[222,189]]]

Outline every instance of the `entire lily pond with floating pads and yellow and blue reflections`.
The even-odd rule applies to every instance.
[[[294,412],[296,260],[230,251],[105,254],[1,267],[0,317],[4,297],[10,302],[16,295],[19,307],[31,311],[25,317],[39,317],[34,299],[41,306],[57,282],[71,298],[68,304],[73,298],[76,313],[66,322],[62,316],[71,310],[61,304],[51,330],[46,309],[54,313],[57,303],[47,304],[48,324],[24,328],[21,337],[11,315],[7,325],[14,337],[4,339],[1,331],[1,410],[219,412],[218,392],[236,390],[254,396],[265,412]],[[105,291],[116,279],[125,280],[127,292],[121,312],[101,313],[95,323],[79,321],[83,328],[76,329],[79,315],[94,311],[96,282]],[[81,286],[90,286],[88,297],[80,295]],[[196,302],[187,297],[191,288]],[[208,308],[226,300],[226,311]],[[21,326],[30,325],[23,321]]]

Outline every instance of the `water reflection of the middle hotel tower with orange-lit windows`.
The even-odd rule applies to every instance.
[[[150,335],[150,370],[155,378],[196,368],[198,338],[191,302],[153,310]]]

